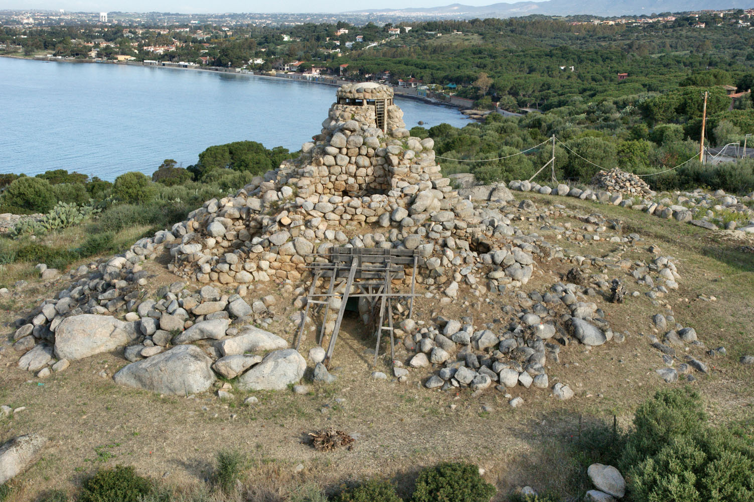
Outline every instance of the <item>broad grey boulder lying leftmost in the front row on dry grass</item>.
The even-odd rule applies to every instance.
[[[118,385],[155,393],[188,396],[212,387],[212,359],[198,346],[179,345],[164,353],[124,366],[113,375]]]

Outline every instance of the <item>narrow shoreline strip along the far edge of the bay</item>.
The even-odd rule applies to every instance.
[[[242,70],[242,71],[228,71],[227,69],[220,68],[219,66],[208,66],[208,67],[202,67],[202,66],[178,66],[177,63],[172,63],[170,66],[162,66],[162,65],[155,65],[155,64],[144,64],[140,62],[128,62],[128,61],[112,61],[112,60],[92,60],[92,59],[85,59],[85,60],[79,60],[79,59],[58,59],[57,57],[43,57],[43,56],[33,56],[33,57],[26,57],[26,56],[14,56],[12,54],[0,54],[0,57],[8,57],[10,59],[17,59],[17,60],[26,60],[26,61],[39,61],[41,63],[76,63],[76,64],[115,64],[115,65],[121,65],[121,66],[139,66],[143,68],[160,68],[160,69],[179,69],[179,70],[192,70],[192,71],[200,71],[200,72],[212,72],[212,73],[224,73],[226,75],[238,75],[240,77],[257,77],[260,79],[271,79],[271,80],[290,80],[293,82],[305,82],[308,84],[318,84],[318,85],[329,85],[330,87],[339,87],[343,84],[351,84],[353,81],[351,80],[345,80],[345,79],[338,79],[334,78],[334,82],[324,82],[323,80],[320,80],[320,77],[316,77],[316,79],[305,79],[300,77],[293,77],[293,76],[284,76],[289,75],[287,73],[283,73],[280,76],[277,75],[260,75],[259,73],[255,73],[253,70]],[[175,66],[173,66],[173,64]],[[408,94],[403,91],[399,91],[400,88],[394,87],[395,96],[399,98],[406,98],[410,100],[416,100],[421,101],[421,103],[426,103],[434,106],[443,106],[445,108],[453,108],[457,109],[460,113],[461,109],[469,109],[464,106],[460,106],[454,103],[445,103],[443,101],[433,100],[428,97],[418,96],[417,94]],[[463,115],[463,114],[461,114]],[[464,115],[466,119],[468,119],[470,122],[474,122],[474,119],[471,119],[467,115]]]

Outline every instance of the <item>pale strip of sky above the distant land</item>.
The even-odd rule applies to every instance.
[[[439,7],[452,3],[464,5],[490,5],[502,0],[413,0],[410,4],[401,0],[370,2],[369,8]],[[508,0],[505,3],[512,3]],[[364,8],[364,4],[352,0],[277,0],[262,2],[252,0],[0,0],[0,9],[66,9],[66,11],[106,12],[181,12],[207,14],[214,12],[346,12]]]

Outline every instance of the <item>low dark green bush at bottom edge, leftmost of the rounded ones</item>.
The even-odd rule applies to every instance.
[[[137,475],[131,466],[118,465],[87,479],[78,502],[138,502],[151,490],[149,479]]]

